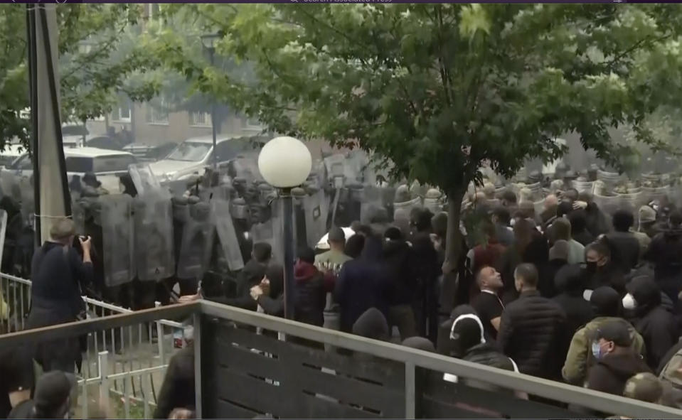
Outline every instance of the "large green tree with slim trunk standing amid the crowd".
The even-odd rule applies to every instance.
[[[171,45],[169,65],[273,131],[360,147],[395,178],[444,190],[450,262],[481,165],[513,176],[526,158],[562,155],[553,139],[572,131],[615,164],[630,149],[607,129],[622,124],[663,147],[643,121],[682,86],[677,5],[181,7],[222,31],[220,53],[252,63],[257,80],[197,67]]]

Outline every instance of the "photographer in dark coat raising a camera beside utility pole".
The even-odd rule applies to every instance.
[[[85,317],[81,290],[92,282],[90,237],[78,238],[82,257],[71,246],[74,237],[73,220],[55,220],[50,229],[50,240],[33,254],[31,313],[27,328],[70,323]],[[46,372],[74,372],[81,359],[78,338],[38,343],[35,357]]]

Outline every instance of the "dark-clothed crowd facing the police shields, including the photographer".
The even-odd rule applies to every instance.
[[[680,210],[666,201],[656,209],[643,206],[636,215],[628,210],[606,215],[590,194],[561,188],[551,191],[538,212],[523,190],[496,193],[485,185],[469,197],[464,214],[477,216],[479,234],[460,227],[458,262],[445,259],[447,213],[419,209],[409,222],[355,224],[350,237],[332,227],[328,250],[297,253],[296,321],[323,326],[324,311],[336,307],[346,333],[682,407]],[[92,264],[89,239],[78,238],[82,257],[70,249],[74,232],[69,221],[55,223],[53,239],[34,257],[29,325],[82,315],[75,298]],[[64,278],[56,282],[54,273]],[[282,266],[272,262],[270,245],[256,243],[235,296],[210,298],[284,316],[283,292]],[[180,301],[202,297],[207,296],[200,292]],[[191,332],[186,343],[171,359],[156,418],[193,415]],[[70,377],[46,374],[33,387],[26,372],[33,357],[46,372],[70,375],[80,362],[76,347],[69,340],[2,355],[1,370],[11,378],[3,381],[2,414],[63,416],[68,393],[45,397],[41,386],[63,389]]]

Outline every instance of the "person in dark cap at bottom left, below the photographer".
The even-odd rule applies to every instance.
[[[10,412],[8,419],[64,419],[71,406],[76,377],[53,370],[38,378],[33,399],[27,399]]]

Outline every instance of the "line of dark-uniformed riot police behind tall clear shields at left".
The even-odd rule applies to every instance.
[[[252,244],[269,243],[273,259],[282,262],[281,203],[260,177],[256,159],[238,156],[218,171],[206,168],[201,177],[164,184],[149,166],[131,166],[121,176],[120,193],[104,190],[93,176],[87,183],[72,179],[72,217],[78,234],[92,237],[93,244],[95,284],[83,294],[124,308],[150,308],[154,301],[170,303],[178,292],[196,293],[201,281],[204,294],[229,297]],[[421,208],[416,188],[396,190],[377,178],[361,151],[319,161],[292,191],[295,245],[315,248],[332,223],[387,224],[394,212],[403,217]],[[30,279],[33,182],[3,172],[0,187],[0,207],[9,215],[2,271]]]

